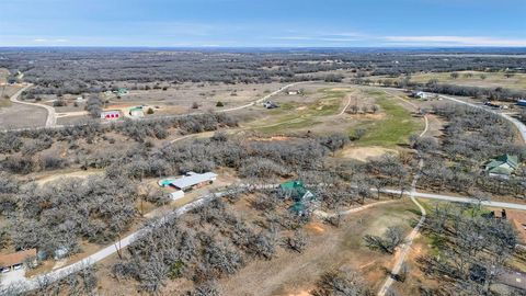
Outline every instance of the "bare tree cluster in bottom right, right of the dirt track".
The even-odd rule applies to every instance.
[[[424,235],[432,238],[434,250],[419,259],[420,266],[443,284],[423,295],[500,295],[491,291],[492,284],[502,281],[518,242],[508,220],[478,207],[436,206]]]

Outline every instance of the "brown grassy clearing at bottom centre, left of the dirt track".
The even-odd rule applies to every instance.
[[[385,277],[393,257],[370,251],[363,243],[366,234],[381,235],[388,226],[400,225],[407,231],[418,216],[410,201],[400,201],[348,215],[340,228],[320,223],[306,227],[309,246],[298,254],[281,250],[270,261],[254,261],[238,274],[221,281],[226,295],[301,295],[310,291],[327,271],[361,270],[375,289]],[[308,294],[305,294],[308,295]]]

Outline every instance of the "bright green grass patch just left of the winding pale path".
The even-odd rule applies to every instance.
[[[367,91],[367,95],[376,98],[386,116],[381,119],[368,119],[359,123],[351,133],[357,128],[366,129],[365,136],[356,141],[359,146],[384,146],[392,147],[399,144],[407,144],[409,136],[423,130],[423,123],[418,123],[409,111],[400,106],[395,100],[387,99],[387,94],[380,91]]]

